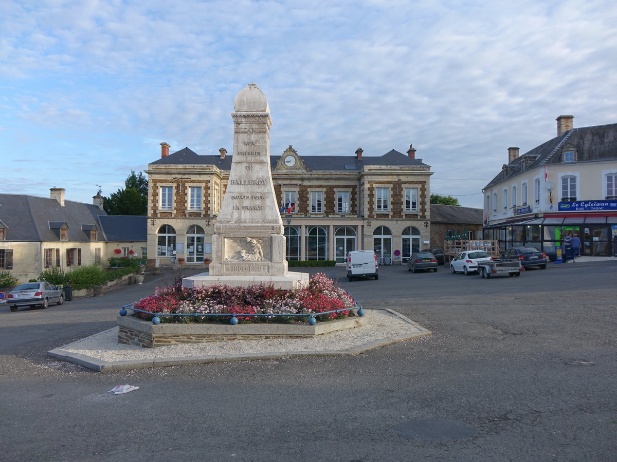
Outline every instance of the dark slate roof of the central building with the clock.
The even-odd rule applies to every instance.
[[[397,166],[424,166],[428,167],[419,159],[412,159],[408,155],[398,152],[394,149],[385,153],[383,156],[371,157],[362,156],[362,159],[357,159],[357,156],[299,156],[304,165],[312,171],[356,171],[362,170],[365,165],[397,165]],[[232,155],[226,155],[221,158],[220,155],[198,155],[189,148],[183,148],[176,151],[167,157],[160,158],[151,162],[151,164],[202,164],[214,165],[221,170],[231,169]],[[281,156],[270,155],[270,166],[274,168]],[[347,169],[346,165],[354,165],[354,169]]]

